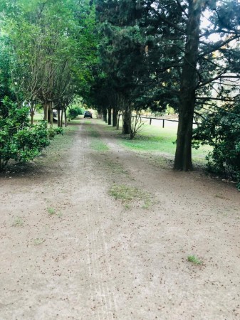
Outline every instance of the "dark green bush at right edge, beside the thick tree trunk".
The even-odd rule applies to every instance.
[[[194,146],[199,144],[213,146],[207,156],[209,170],[236,180],[240,190],[240,104],[209,114],[194,129]]]

